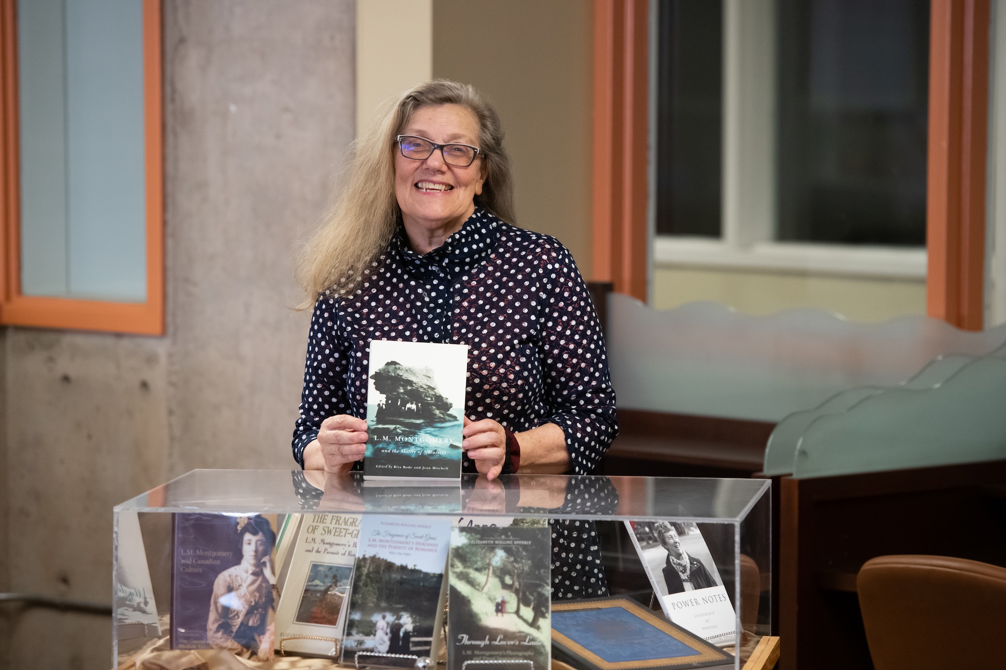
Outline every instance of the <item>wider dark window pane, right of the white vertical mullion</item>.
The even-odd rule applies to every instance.
[[[780,239],[926,243],[929,8],[780,1]]]

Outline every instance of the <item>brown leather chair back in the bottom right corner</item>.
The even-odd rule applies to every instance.
[[[1004,667],[1006,567],[947,556],[879,556],[856,577],[876,670]]]

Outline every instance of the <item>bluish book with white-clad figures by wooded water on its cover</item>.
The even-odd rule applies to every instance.
[[[363,517],[342,663],[359,654],[360,664],[411,668],[414,658],[437,658],[450,546],[450,517]]]

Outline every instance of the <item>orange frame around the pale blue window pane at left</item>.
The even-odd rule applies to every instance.
[[[164,334],[161,0],[143,0],[147,300],[120,303],[21,294],[17,3],[0,0],[0,324]]]

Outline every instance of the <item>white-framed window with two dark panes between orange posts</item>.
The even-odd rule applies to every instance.
[[[926,276],[928,2],[653,6],[657,263]]]

